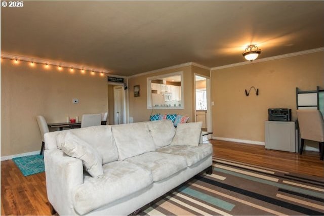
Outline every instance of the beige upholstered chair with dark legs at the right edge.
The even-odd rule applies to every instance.
[[[305,140],[318,142],[320,160],[324,156],[324,119],[319,110],[297,110],[301,135],[299,154],[303,153]]]

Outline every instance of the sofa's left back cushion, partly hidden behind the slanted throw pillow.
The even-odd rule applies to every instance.
[[[99,125],[84,128],[76,128],[58,132],[56,136],[57,148],[62,149],[67,132],[72,132],[80,139],[83,139],[102,155],[102,163],[109,163],[118,159],[116,145],[113,142],[111,125]],[[56,133],[56,132],[54,132]]]

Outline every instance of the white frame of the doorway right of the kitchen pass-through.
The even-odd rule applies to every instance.
[[[212,106],[211,106],[211,77],[205,76],[199,73],[193,73],[193,88],[194,88],[194,94],[193,94],[193,100],[194,100],[194,121],[196,121],[196,76],[201,76],[206,78],[206,96],[207,96],[207,116],[206,116],[206,125],[207,125],[207,131],[212,132]]]

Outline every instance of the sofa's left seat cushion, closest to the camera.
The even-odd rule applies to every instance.
[[[129,196],[152,184],[151,172],[134,163],[114,161],[103,165],[104,177],[85,176],[72,196],[74,209],[86,214],[117,199]]]

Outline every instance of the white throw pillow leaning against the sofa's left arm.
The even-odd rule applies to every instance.
[[[102,156],[86,141],[67,132],[62,151],[71,157],[81,159],[85,169],[93,178],[103,177]]]

